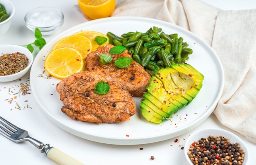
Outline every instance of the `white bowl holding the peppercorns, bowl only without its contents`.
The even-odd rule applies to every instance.
[[[199,141],[201,138],[209,137],[210,135],[212,135],[212,136],[220,136],[221,135],[222,137],[228,138],[230,143],[239,143],[240,147],[243,148],[243,151],[245,152],[245,160],[243,162],[243,165],[249,165],[249,163],[248,163],[249,152],[248,152],[248,149],[247,149],[245,143],[242,141],[242,139],[240,139],[238,136],[236,136],[235,134],[233,134],[229,131],[222,130],[222,129],[215,129],[215,128],[198,130],[198,131],[194,132],[193,134],[191,134],[189,136],[189,138],[186,140],[186,143],[184,146],[184,154],[185,154],[186,161],[188,162],[188,165],[193,165],[193,163],[191,162],[191,160],[187,154],[187,152],[189,151],[190,145],[192,143],[194,143],[195,141]]]

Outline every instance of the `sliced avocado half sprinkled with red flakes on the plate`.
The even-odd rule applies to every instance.
[[[195,98],[203,80],[204,75],[189,64],[160,69],[151,77],[141,99],[142,116],[150,122],[162,123]]]

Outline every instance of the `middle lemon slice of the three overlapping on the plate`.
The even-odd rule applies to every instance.
[[[75,48],[85,59],[87,54],[92,51],[92,42],[83,35],[70,35],[59,40],[52,49],[65,47]]]

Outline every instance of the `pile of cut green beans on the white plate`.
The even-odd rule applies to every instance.
[[[109,43],[125,46],[137,63],[145,68],[150,75],[172,64],[185,63],[193,53],[189,44],[183,42],[178,34],[168,35],[156,26],[145,33],[128,32],[121,37],[108,32]]]

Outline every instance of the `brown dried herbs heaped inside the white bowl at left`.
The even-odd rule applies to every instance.
[[[25,54],[7,53],[0,56],[0,76],[13,75],[25,69],[29,60]]]

